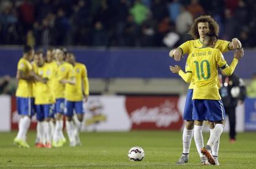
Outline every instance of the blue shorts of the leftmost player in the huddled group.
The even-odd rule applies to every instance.
[[[17,97],[17,111],[19,115],[28,115],[32,117],[35,113],[33,99],[30,97]]]

